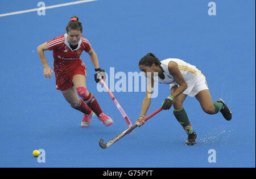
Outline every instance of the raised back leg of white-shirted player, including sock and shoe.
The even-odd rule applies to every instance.
[[[221,99],[218,99],[213,103],[209,90],[202,90],[197,93],[196,99],[199,101],[201,108],[205,113],[217,114],[220,111],[226,120],[231,120],[232,115],[228,106],[226,106],[224,101]]]

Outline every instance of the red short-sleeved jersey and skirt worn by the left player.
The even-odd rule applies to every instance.
[[[86,76],[86,67],[80,59],[83,50],[92,49],[90,42],[81,36],[76,49],[72,50],[68,43],[68,35],[56,37],[47,42],[47,48],[53,50],[54,72],[57,90],[68,90],[73,86],[72,78],[76,74]]]

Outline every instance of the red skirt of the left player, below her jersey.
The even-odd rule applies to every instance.
[[[84,75],[86,77],[85,63],[79,59],[69,66],[58,66],[54,64],[54,73],[56,78],[56,89],[60,91],[68,90],[74,86],[72,80],[75,75]]]

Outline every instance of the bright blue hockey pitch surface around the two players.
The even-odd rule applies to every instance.
[[[71,1],[46,0],[46,6]],[[99,0],[79,5],[0,17],[1,95],[0,167],[255,167],[255,1]],[[36,8],[37,2],[2,1],[0,14]],[[46,79],[36,48],[63,35],[71,16],[79,16],[86,37],[107,73],[139,72],[138,61],[148,52],[159,59],[180,58],[206,76],[213,101],[222,98],[232,110],[208,115],[187,97],[184,108],[197,133],[195,146],[186,146],[183,128],[171,110],[137,127],[113,146],[105,142],[127,129],[108,93],[98,92],[89,56],[86,83],[102,110],[114,120],[105,127],[97,117],[80,127],[82,113],[74,110]],[[52,52],[47,51],[53,69]],[[118,79],[115,79],[117,82]],[[131,122],[137,121],[145,92],[113,92]],[[159,84],[148,113],[170,95]],[[32,151],[43,149],[46,163]],[[216,151],[209,163],[208,151]]]

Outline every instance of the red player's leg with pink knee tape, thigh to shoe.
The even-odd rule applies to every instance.
[[[109,126],[113,123],[112,118],[107,116],[102,112],[98,101],[93,96],[93,93],[89,92],[86,87],[86,77],[84,75],[75,75],[73,76],[72,82],[76,87],[77,94],[84,100],[84,102],[89,106],[90,109],[97,115],[98,119],[104,123],[106,126]]]

